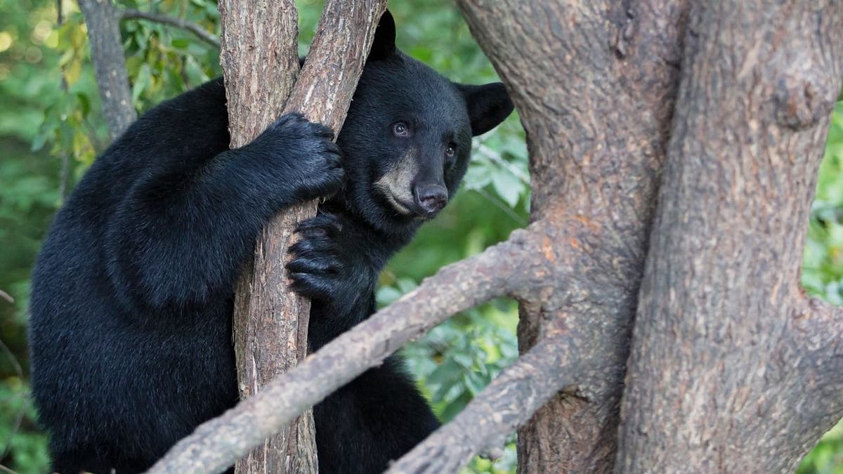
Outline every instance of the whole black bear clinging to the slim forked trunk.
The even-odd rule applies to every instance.
[[[55,471],[144,471],[234,406],[234,282],[284,207],[330,197],[299,225],[287,265],[313,300],[311,350],[371,315],[379,272],[454,195],[471,136],[513,110],[501,83],[451,83],[396,50],[389,13],[336,144],[287,115],[228,149],[225,103],[217,79],[150,110],[56,215],[30,320]],[[314,416],[325,473],[383,471],[438,426],[397,357]]]

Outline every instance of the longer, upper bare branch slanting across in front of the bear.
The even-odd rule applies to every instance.
[[[201,424],[150,473],[223,471],[285,423],[346,385],[455,312],[523,291],[540,253],[525,231],[478,256],[444,267],[388,308],[337,337],[301,364],[266,384],[221,417]]]

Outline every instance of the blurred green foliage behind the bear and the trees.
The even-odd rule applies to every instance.
[[[71,0],[0,0],[0,471],[48,470],[46,437],[28,399],[30,269],[56,209],[109,143],[83,18]],[[164,13],[218,32],[212,0],[117,0],[118,8]],[[321,12],[299,0],[300,52]],[[448,0],[392,0],[399,47],[448,78],[497,76]],[[61,9],[61,15],[59,11]],[[146,19],[121,22],[132,100],[142,113],[222,72],[218,50],[185,30]],[[439,267],[474,255],[524,227],[529,173],[524,130],[512,117],[475,139],[464,186],[445,211],[396,256],[381,277],[380,304]],[[803,285],[843,304],[843,104],[835,107],[808,225]],[[517,305],[491,302],[438,326],[405,348],[409,369],[447,421],[518,355]],[[465,472],[514,472],[514,436],[496,461]],[[806,457],[801,474],[843,474],[843,425]]]

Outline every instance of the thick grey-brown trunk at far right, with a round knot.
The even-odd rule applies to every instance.
[[[797,331],[841,32],[833,2],[692,8],[619,471],[792,471],[843,415],[840,340]]]

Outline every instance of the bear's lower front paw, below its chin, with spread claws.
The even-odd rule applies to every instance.
[[[296,293],[328,304],[350,304],[373,284],[365,261],[342,244],[339,218],[319,214],[299,224],[296,232],[300,240],[290,247],[293,260],[287,263]]]

